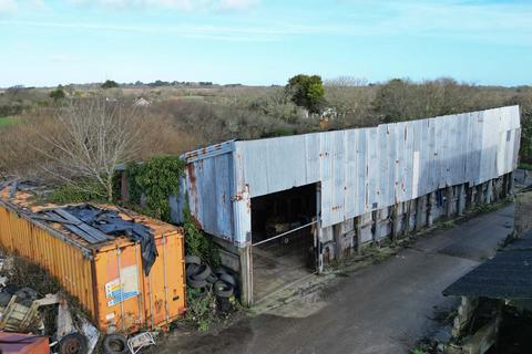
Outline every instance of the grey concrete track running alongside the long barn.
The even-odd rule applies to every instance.
[[[491,257],[513,229],[513,205],[436,230],[389,259],[347,273],[325,290],[217,333],[172,335],[170,353],[409,353],[454,306],[441,294]]]

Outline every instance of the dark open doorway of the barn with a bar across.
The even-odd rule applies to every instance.
[[[317,188],[310,184],[252,198],[255,301],[316,271]]]

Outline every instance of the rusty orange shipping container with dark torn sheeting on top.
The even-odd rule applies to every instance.
[[[43,207],[28,207],[27,200],[28,195],[22,192],[14,199],[0,192],[0,243],[54,275],[101,331],[113,327],[133,333],[143,327],[165,327],[184,313],[181,228],[120,211],[123,219],[147,226],[154,235],[158,257],[146,277],[140,243],[117,237],[89,244],[59,223],[31,218],[27,211]]]

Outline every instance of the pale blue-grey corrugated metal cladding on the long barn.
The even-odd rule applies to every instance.
[[[478,185],[512,171],[520,129],[519,106],[510,106],[228,142],[185,156],[191,209],[205,231],[245,243],[250,231],[246,199],[320,183],[321,225],[328,227],[446,186]],[[224,153],[213,156],[215,150]]]

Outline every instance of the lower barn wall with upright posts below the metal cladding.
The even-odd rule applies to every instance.
[[[438,189],[416,199],[399,202],[340,223],[319,232],[323,267],[361,253],[366,246],[379,247],[431,227],[440,220],[452,220],[483,205],[513,196],[512,173],[478,186],[461,184]]]

